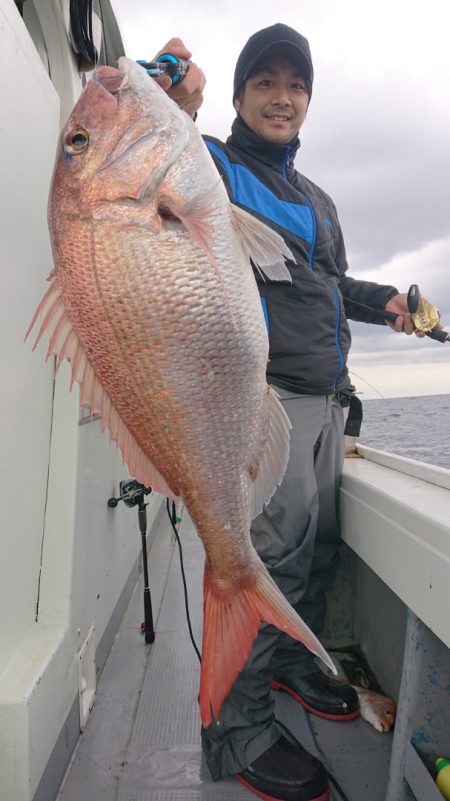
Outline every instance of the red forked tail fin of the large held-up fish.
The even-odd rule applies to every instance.
[[[217,589],[206,568],[203,603],[200,713],[204,726],[218,718],[220,707],[244,668],[263,622],[272,623],[302,642],[336,673],[327,652],[278,589],[262,562],[256,565],[256,580],[231,594]]]

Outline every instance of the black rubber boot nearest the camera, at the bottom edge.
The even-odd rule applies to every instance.
[[[330,797],[322,763],[283,735],[236,778],[265,801],[328,801]]]

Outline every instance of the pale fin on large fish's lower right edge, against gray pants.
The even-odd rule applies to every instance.
[[[277,486],[281,483],[289,459],[289,431],[291,423],[281,401],[272,387],[268,387],[269,426],[264,450],[257,466],[249,473],[256,478],[251,485],[250,513],[255,518],[262,512],[263,504],[269,503]]]

